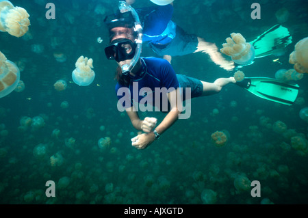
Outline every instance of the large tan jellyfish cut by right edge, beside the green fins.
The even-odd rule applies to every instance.
[[[289,63],[294,64],[297,72],[308,73],[308,37],[295,44],[295,49],[289,57]]]

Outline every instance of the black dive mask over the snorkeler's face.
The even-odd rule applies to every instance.
[[[136,53],[137,44],[127,40],[126,38],[120,38],[114,40],[114,43],[105,48],[105,55],[109,60],[116,60],[116,62],[122,62],[127,59],[133,59]]]

